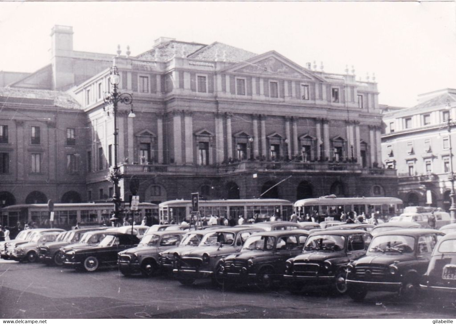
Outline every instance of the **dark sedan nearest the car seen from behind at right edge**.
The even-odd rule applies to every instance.
[[[444,234],[426,228],[386,231],[373,237],[365,257],[347,266],[348,294],[362,300],[369,291],[413,298],[420,288],[432,249]]]

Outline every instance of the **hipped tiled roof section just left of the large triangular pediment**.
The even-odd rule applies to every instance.
[[[218,57],[218,60],[220,61],[243,62],[254,56],[257,56],[257,54],[216,41],[211,45],[207,45],[198,51],[195,51],[189,55],[188,58],[214,61],[215,58]]]

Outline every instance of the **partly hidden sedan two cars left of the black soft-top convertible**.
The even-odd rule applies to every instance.
[[[104,230],[109,227],[85,227],[77,230],[67,231],[62,237],[57,237],[55,242],[45,243],[38,247],[38,258],[41,262],[47,264],[54,263],[57,266],[61,266],[62,262],[62,250],[61,247],[66,247],[72,243],[79,242],[83,235],[90,231]]]

